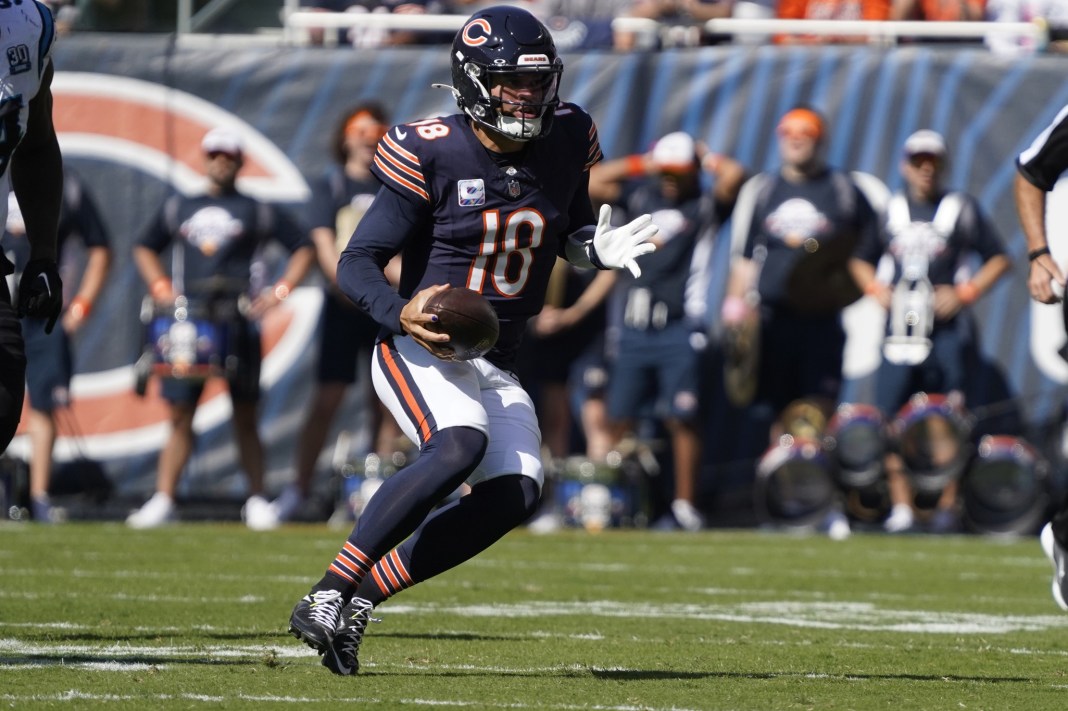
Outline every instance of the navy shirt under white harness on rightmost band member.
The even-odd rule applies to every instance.
[[[952,231],[943,234],[933,224],[944,195],[923,203],[907,198],[910,224],[895,235],[883,222],[878,239],[865,239],[857,256],[878,265],[883,253],[890,254],[894,257],[893,283],[897,283],[902,272],[902,260],[908,258],[906,253],[918,252],[927,265],[927,278],[931,284],[954,284],[963,262],[973,254],[977,254],[983,262],[1004,254],[1001,237],[978,202],[964,193],[954,195],[961,201],[961,206]]]

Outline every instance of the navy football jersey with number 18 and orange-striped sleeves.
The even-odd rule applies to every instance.
[[[511,367],[568,235],[596,222],[588,171],[601,158],[600,144],[590,115],[567,104],[547,137],[513,154],[488,151],[468,121],[430,118],[382,138],[373,171],[383,192],[400,200],[376,199],[342,254],[339,284],[396,333],[400,309],[419,290],[451,284],[478,291],[501,322],[487,358]],[[363,276],[368,264],[380,269],[397,252],[396,294],[384,279]]]

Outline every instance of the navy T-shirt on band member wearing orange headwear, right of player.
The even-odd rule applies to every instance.
[[[754,258],[757,248],[767,250],[760,270],[760,301],[772,306],[815,313],[841,309],[838,297],[822,288],[823,279],[841,281],[857,246],[877,239],[878,221],[871,204],[845,173],[829,169],[803,183],[780,175],[769,176],[756,199],[744,255]],[[791,288],[799,281],[798,268],[810,265],[819,273],[801,280],[814,288]],[[827,291],[826,294],[823,291]],[[803,303],[799,303],[799,298]]]

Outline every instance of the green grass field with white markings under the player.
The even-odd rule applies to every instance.
[[[0,705],[1068,705],[1068,614],[1034,539],[517,531],[382,605],[339,678],[285,628],[344,535],[0,526]]]

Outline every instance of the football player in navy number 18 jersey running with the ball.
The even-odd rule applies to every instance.
[[[541,437],[512,369],[556,256],[637,275],[637,258],[655,249],[650,216],[615,230],[611,208],[594,217],[597,129],[559,99],[563,62],[541,22],[513,6],[480,11],[451,56],[461,112],[386,133],[373,169],[383,187],[337,268],[342,290],[382,326],[375,391],[420,447],[289,618],[340,675],[358,670],[375,605],[471,558],[536,509]],[[397,253],[394,290],[383,269]],[[430,328],[423,306],[447,286],[496,309],[500,337],[484,358],[454,360],[449,336]],[[470,493],[435,510],[465,481]]]

